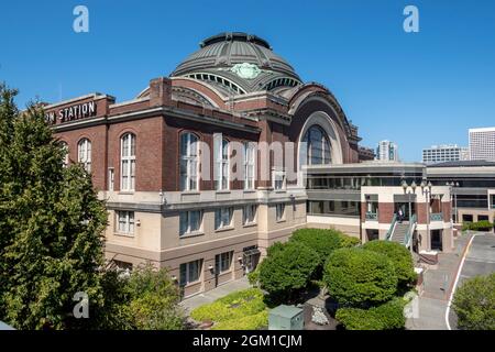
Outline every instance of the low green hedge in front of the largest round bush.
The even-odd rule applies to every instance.
[[[370,309],[341,308],[337,310],[336,318],[348,330],[403,329],[406,323],[402,298]]]

